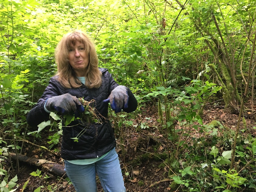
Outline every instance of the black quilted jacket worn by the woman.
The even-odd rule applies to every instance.
[[[107,99],[111,91],[118,86],[111,74],[105,68],[100,68],[102,72],[102,84],[100,88],[88,89],[84,85],[79,88],[64,88],[57,80],[52,77],[38,103],[27,115],[27,122],[31,127],[37,127],[42,121],[49,119],[49,114],[44,110],[47,98],[69,93],[77,98],[81,97],[87,101],[95,100],[96,110],[105,118],[108,117],[108,104],[103,100]],[[128,89],[129,101],[125,112],[135,111],[137,100]],[[75,126],[72,126],[75,125]],[[103,154],[115,147],[115,136],[113,128],[108,121],[103,124],[93,123],[88,126],[73,121],[70,125],[63,128],[61,156],[66,160],[88,159],[101,157]],[[82,134],[81,134],[82,133]],[[79,137],[75,142],[73,137]]]

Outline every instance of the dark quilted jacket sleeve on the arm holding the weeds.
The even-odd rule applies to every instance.
[[[36,129],[37,125],[43,121],[49,120],[49,113],[45,111],[44,105],[48,98],[60,95],[56,83],[57,81],[51,78],[49,85],[45,88],[45,91],[41,98],[38,100],[37,104],[29,111],[27,115],[27,123],[33,129]]]

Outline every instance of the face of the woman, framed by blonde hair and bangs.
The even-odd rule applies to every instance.
[[[75,45],[71,43],[68,60],[78,77],[84,77],[85,71],[89,64],[88,54],[85,52],[85,45],[79,41],[75,41]]]

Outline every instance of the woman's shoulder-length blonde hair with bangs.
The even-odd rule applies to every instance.
[[[76,77],[75,71],[69,64],[70,45],[75,41],[85,45],[85,52],[88,54],[89,64],[85,71],[85,86],[88,88],[99,88],[101,86],[101,71],[98,69],[98,56],[95,45],[84,32],[75,30],[63,36],[55,49],[55,60],[58,68],[58,81],[65,88],[78,88],[82,84]]]

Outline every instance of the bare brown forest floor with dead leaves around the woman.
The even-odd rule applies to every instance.
[[[250,102],[247,103],[250,108]],[[254,105],[254,108],[256,105]],[[121,168],[124,175],[125,187],[128,192],[167,192],[175,191],[170,188],[172,180],[168,177],[168,166],[164,163],[166,151],[171,150],[174,144],[171,144],[168,139],[163,136],[163,133],[159,132],[157,123],[157,109],[152,110],[150,108],[144,108],[144,113],[138,115],[138,119],[134,121],[134,125],[137,122],[142,122],[147,125],[145,129],[138,130],[135,127],[123,127],[124,141],[117,139],[117,152]],[[203,122],[208,124],[213,120],[220,121],[221,124],[230,129],[235,129],[238,123],[238,115],[230,114],[227,109],[219,108],[216,106],[207,106],[203,113]],[[254,117],[255,118],[255,117]],[[247,131],[245,134],[256,135],[255,119],[247,118]],[[178,129],[179,125],[176,125]],[[31,141],[38,146],[48,147],[49,131],[43,130],[41,133],[42,138],[36,138],[35,141]],[[200,133],[197,130],[190,130],[192,137],[199,137]],[[117,137],[118,138],[118,137]],[[120,137],[119,137],[120,138]],[[190,138],[183,138],[185,142],[189,143]],[[61,142],[54,148],[61,147]],[[121,144],[122,143],[122,144]],[[168,147],[169,145],[169,147]],[[63,165],[63,160],[60,157],[60,153],[51,154],[39,147],[24,143],[24,151],[28,157],[36,157],[39,159],[46,159],[53,161],[57,164]],[[184,149],[185,150],[185,149]],[[157,157],[155,154],[159,154]],[[162,154],[162,156],[161,156]],[[33,171],[40,167],[33,166],[27,163],[20,162],[20,173],[18,174],[19,188],[17,191],[33,192],[39,186],[43,186],[41,191],[56,191],[56,192],[75,192],[74,187],[67,179],[65,175],[63,177],[57,177],[47,170],[42,170],[40,176],[35,177],[30,175]],[[126,173],[126,174],[125,174]],[[27,186],[24,190],[22,187],[25,182]],[[42,190],[43,189],[43,190]],[[179,190],[176,190],[179,191]],[[103,192],[98,180],[98,192]]]

